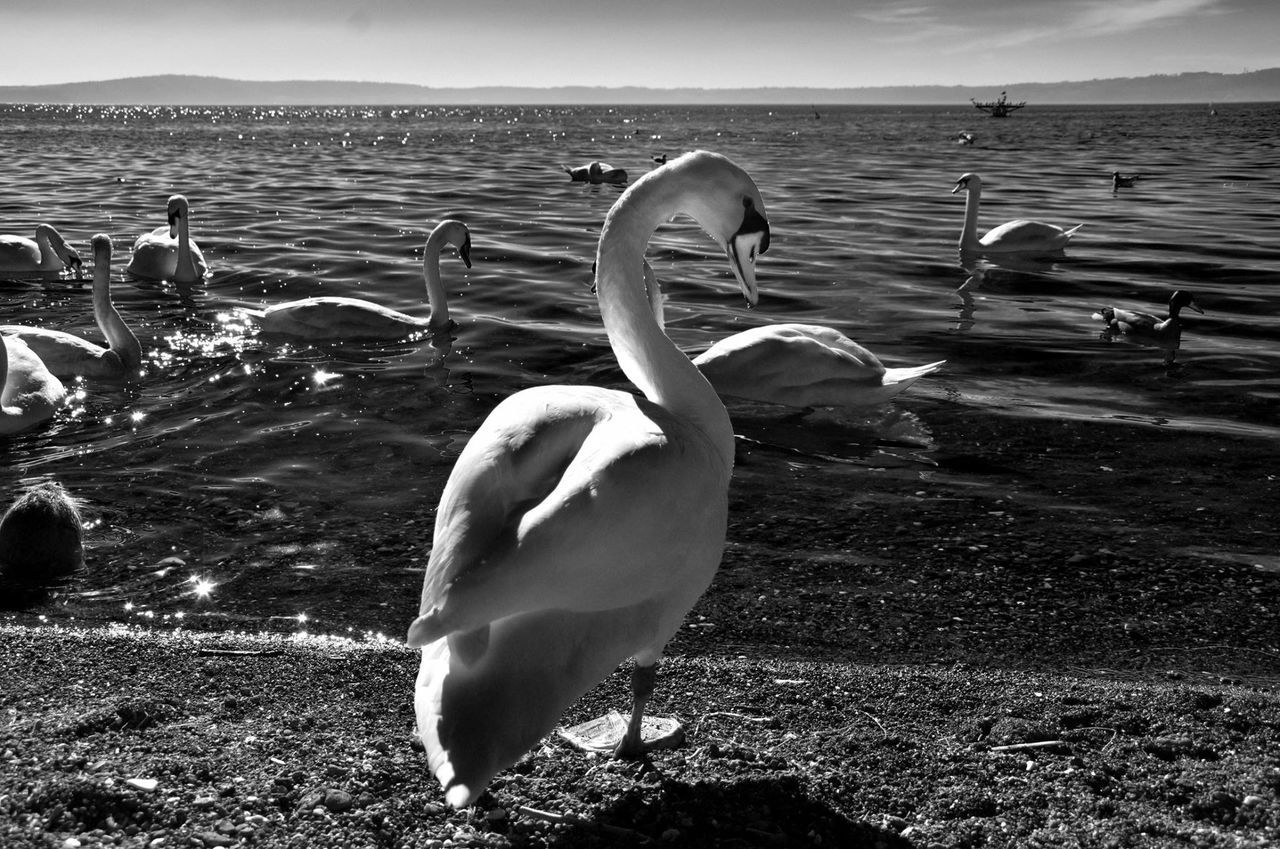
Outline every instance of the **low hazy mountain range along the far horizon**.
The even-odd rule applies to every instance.
[[[1004,86],[1029,104],[1174,104],[1280,101],[1280,68],[1239,74],[1184,73],[1080,82]],[[9,104],[137,105],[529,105],[529,104],[796,104],[966,105],[995,100],[995,86],[884,86],[869,88],[643,88],[484,86],[434,88],[380,82],[284,82],[166,74],[50,86],[0,86]]]

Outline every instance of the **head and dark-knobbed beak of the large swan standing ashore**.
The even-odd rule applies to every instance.
[[[686,204],[685,213],[724,251],[742,297],[754,306],[759,298],[755,259],[769,250],[769,222],[760,190],[731,159],[705,150],[685,154],[650,174],[680,172],[703,186],[703,191]]]

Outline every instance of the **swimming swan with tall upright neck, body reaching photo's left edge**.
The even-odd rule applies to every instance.
[[[93,246],[93,319],[106,347],[63,330],[18,324],[0,327],[26,342],[59,378],[123,378],[142,366],[142,344],[111,302],[111,238],[99,233]]]

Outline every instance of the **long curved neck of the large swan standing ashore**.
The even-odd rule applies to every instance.
[[[657,191],[655,191],[657,187]],[[644,248],[662,222],[681,211],[660,181],[637,183],[604,222],[596,255],[596,296],[622,373],[645,398],[692,423],[733,467],[733,428],[707,378],[667,338],[644,280]]]

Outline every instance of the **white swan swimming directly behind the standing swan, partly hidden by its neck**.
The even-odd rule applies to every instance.
[[[649,263],[645,289],[659,327],[662,292]],[[767,324],[716,342],[694,357],[722,397],[788,407],[872,407],[941,369],[928,365],[887,369],[879,357],[840,330],[820,324]]]

